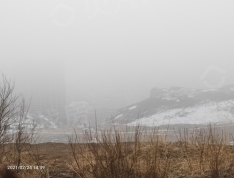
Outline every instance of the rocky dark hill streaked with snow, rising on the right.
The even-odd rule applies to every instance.
[[[118,110],[105,124],[159,126],[232,123],[234,86],[219,89],[153,88],[150,98]]]

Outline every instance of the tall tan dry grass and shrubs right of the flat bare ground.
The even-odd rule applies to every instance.
[[[157,128],[134,134],[120,130],[100,133],[85,131],[83,140],[75,133],[69,139],[73,162],[69,168],[77,177],[166,178],[232,177],[234,147],[228,133],[209,126],[175,132],[176,142],[168,142]],[[96,143],[93,143],[95,140]]]

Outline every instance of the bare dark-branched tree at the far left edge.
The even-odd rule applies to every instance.
[[[25,125],[28,117],[29,105],[26,105],[22,95],[14,94],[14,82],[7,80],[2,74],[0,83],[0,158],[9,151],[6,143],[13,143],[16,153],[16,165],[21,164],[21,152],[25,143],[32,142],[36,123]],[[12,125],[12,128],[10,126]],[[2,162],[3,159],[0,159]]]

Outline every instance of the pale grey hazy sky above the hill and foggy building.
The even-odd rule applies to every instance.
[[[233,9],[232,0],[2,0],[0,70],[27,88],[60,68],[68,92],[135,99],[152,87],[234,84]]]

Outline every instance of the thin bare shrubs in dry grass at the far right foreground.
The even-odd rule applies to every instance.
[[[189,132],[184,129],[177,135],[183,157],[187,162],[187,176],[223,177],[231,169],[230,147],[227,145],[228,133],[216,130],[215,126],[194,129]]]

